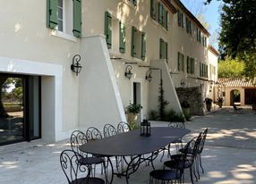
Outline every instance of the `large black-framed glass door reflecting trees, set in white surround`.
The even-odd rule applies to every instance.
[[[0,145],[40,138],[39,77],[0,74]]]

